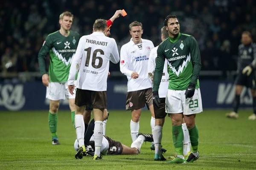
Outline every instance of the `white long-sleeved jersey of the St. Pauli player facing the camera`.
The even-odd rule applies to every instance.
[[[148,58],[154,44],[150,40],[141,39],[142,43],[134,44],[132,39],[121,47],[120,71],[127,76],[128,92],[148,89],[151,82],[148,78]],[[131,73],[137,72],[139,78],[131,78]]]

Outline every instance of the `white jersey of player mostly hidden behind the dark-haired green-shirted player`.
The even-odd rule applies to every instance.
[[[154,49],[151,49],[149,60],[148,60],[148,72],[152,73],[154,72],[155,66],[156,66],[156,58],[157,58],[157,49],[158,46],[156,46]],[[153,85],[153,82],[151,82]],[[158,89],[158,95],[160,98],[166,98],[167,90],[169,85],[169,74],[167,71],[167,61],[165,60],[164,66],[163,66],[163,76],[162,80],[160,82],[160,86]]]

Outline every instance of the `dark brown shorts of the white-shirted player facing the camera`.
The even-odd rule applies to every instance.
[[[145,106],[153,104],[152,88],[127,92],[126,95],[126,110],[141,109]]]

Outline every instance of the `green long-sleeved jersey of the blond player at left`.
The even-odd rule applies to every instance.
[[[79,34],[70,31],[65,37],[59,31],[49,34],[38,54],[39,69],[42,74],[46,72],[46,56],[49,52],[49,79],[50,82],[66,82],[73,56],[79,42]]]

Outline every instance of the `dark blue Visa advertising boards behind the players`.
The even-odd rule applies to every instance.
[[[235,89],[231,81],[200,81],[203,108],[232,108]],[[125,109],[126,81],[108,82],[108,109]],[[0,110],[49,109],[46,87],[41,81],[0,83]],[[249,89],[241,94],[241,107],[252,106]],[[60,109],[69,109],[68,101],[61,101]]]

